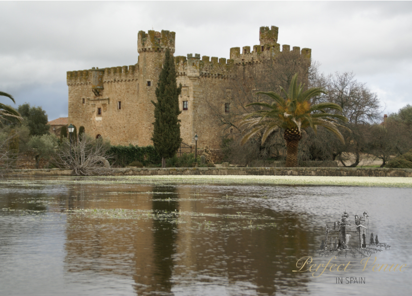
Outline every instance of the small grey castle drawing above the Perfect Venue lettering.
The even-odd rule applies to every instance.
[[[369,244],[366,244],[366,229],[367,229],[367,224],[366,220],[368,219],[368,215],[365,212],[363,212],[362,216],[355,215],[355,225],[352,225],[349,215],[346,211],[343,212],[342,215],[342,221],[340,222],[335,221],[335,225],[333,228],[328,227],[326,224],[325,227],[325,243],[323,244],[321,249],[327,250],[329,249],[330,251],[333,250],[338,250],[338,249],[350,249],[349,243],[352,239],[352,235],[357,234],[358,236],[358,248],[363,249],[366,248],[366,245],[369,245],[370,243],[374,244],[373,242],[373,237],[371,238],[371,241]],[[331,234],[338,234],[339,237],[339,244],[336,242],[335,238],[335,244],[332,243],[332,238],[330,239],[329,243],[329,248],[328,248],[328,236]],[[372,234],[373,236],[373,234]],[[379,244],[378,238],[376,236],[376,244]]]

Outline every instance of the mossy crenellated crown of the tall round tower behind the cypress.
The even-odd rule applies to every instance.
[[[166,51],[166,48],[169,48],[171,53],[174,53],[175,36],[175,32],[165,30],[161,32],[149,30],[147,34],[145,31],[139,31],[137,35],[137,52]]]

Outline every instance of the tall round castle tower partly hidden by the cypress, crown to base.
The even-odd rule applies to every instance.
[[[137,51],[139,52],[138,74],[138,110],[139,118],[139,146],[152,145],[151,140],[154,122],[154,105],[156,102],[155,89],[160,75],[164,53],[170,49],[175,51],[175,32],[169,31],[139,31],[137,37]]]

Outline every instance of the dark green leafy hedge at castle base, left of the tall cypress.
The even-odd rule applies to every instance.
[[[151,145],[146,147],[133,146],[132,144],[111,146],[107,153],[113,155],[112,163],[118,167],[126,167],[134,161],[141,162],[145,167],[161,164],[161,157]]]

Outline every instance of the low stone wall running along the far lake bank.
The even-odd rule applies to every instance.
[[[62,169],[14,169],[9,175],[70,176]],[[112,168],[110,176],[150,175],[275,175],[275,176],[356,176],[412,177],[412,169],[387,168]]]

